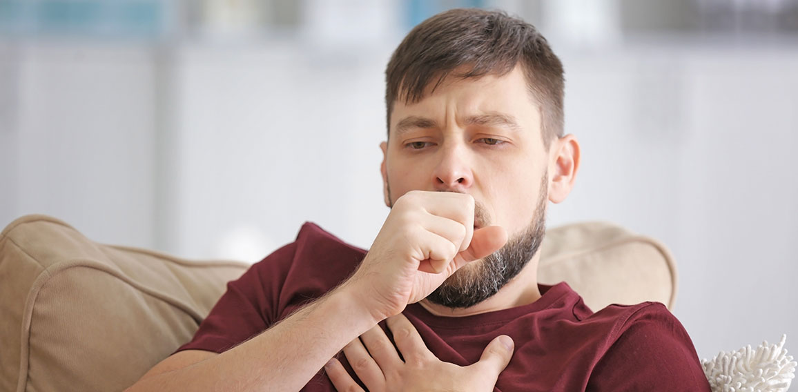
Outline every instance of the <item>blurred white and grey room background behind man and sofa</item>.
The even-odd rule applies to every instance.
[[[549,225],[667,244],[700,357],[798,350],[796,0],[0,0],[0,226],[255,262],[312,220],[369,247],[385,64],[458,6],[563,60],[583,164]]]

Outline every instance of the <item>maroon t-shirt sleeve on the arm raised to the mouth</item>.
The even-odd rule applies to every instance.
[[[275,321],[275,296],[279,286],[279,266],[294,257],[295,243],[288,244],[255,263],[239,279],[227,283],[207,318],[199,324],[191,342],[176,350],[206,350],[222,353],[265,331]],[[265,278],[264,278],[265,276]],[[264,282],[267,279],[270,282]]]

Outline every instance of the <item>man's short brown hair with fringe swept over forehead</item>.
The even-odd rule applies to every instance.
[[[434,90],[450,75],[503,76],[519,63],[549,145],[563,136],[563,64],[535,26],[500,11],[448,10],[407,34],[385,69],[388,127],[397,100],[420,101],[429,85]]]

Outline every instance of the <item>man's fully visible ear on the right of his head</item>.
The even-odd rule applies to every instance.
[[[551,143],[549,156],[548,198],[559,203],[571,193],[579,169],[579,141],[574,135],[566,135]]]

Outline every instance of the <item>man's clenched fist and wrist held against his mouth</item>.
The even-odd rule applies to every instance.
[[[397,315],[455,271],[507,242],[498,226],[474,228],[474,198],[455,192],[401,196],[344,286],[363,299],[375,322]]]

